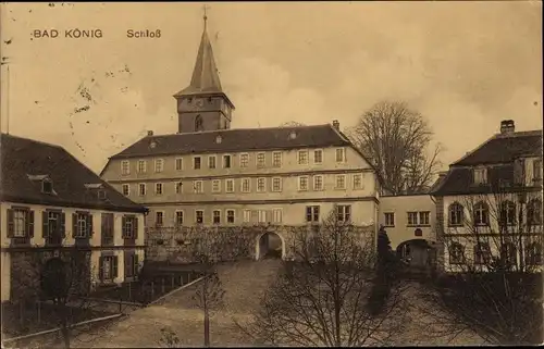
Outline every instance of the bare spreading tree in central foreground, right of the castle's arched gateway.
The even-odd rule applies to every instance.
[[[406,312],[400,283],[379,313],[368,309],[375,282],[373,232],[330,214],[313,230],[295,234],[295,261],[271,286],[249,324],[238,324],[262,345],[373,346],[391,344]]]

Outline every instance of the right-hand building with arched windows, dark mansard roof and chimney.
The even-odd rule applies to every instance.
[[[540,271],[542,130],[515,132],[503,121],[499,134],[449,166],[432,196],[446,271],[497,263]]]

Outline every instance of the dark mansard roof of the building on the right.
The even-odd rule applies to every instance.
[[[434,186],[432,195],[489,194],[516,190],[515,160],[520,157],[542,157],[542,130],[495,135],[472,152],[449,166],[446,177]],[[473,167],[487,165],[487,185],[473,184]],[[508,183],[509,188],[502,187]],[[503,188],[503,189],[498,189]]]

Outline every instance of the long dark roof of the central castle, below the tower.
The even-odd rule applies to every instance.
[[[290,138],[292,133],[296,135]],[[218,137],[221,142],[218,142]],[[154,147],[152,146],[154,145]],[[332,125],[235,128],[147,136],[110,159],[349,146]]]

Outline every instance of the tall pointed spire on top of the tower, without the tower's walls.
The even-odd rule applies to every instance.
[[[195,68],[193,70],[193,77],[190,85],[180,91],[177,95],[191,95],[198,92],[223,92],[221,80],[219,79],[218,67],[215,59],[213,58],[213,50],[207,32],[208,15],[205,7],[203,14],[203,32],[200,39],[200,47],[198,48],[197,60]]]

